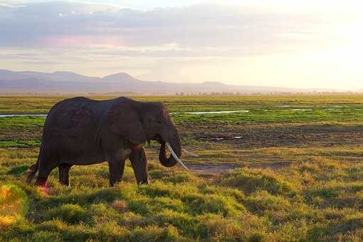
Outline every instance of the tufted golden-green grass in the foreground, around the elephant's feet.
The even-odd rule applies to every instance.
[[[53,172],[46,195],[26,185],[19,172],[9,172],[30,161],[1,152],[1,162],[8,160],[1,177],[20,186],[31,201],[25,220],[1,229],[4,241],[362,238],[362,164],[313,159],[278,171],[243,168],[208,179],[152,162],[152,184],[137,186],[127,167],[115,188],[107,187],[107,166],[99,164],[75,167],[70,188],[58,184]]]

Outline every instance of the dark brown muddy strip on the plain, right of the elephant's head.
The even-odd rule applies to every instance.
[[[363,125],[214,125],[184,132],[201,142],[235,144],[239,148],[331,147],[363,143]]]

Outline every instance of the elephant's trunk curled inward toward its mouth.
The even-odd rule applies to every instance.
[[[177,164],[177,160],[172,156],[172,154],[170,154],[170,157],[167,158],[165,142],[169,142],[175,154],[177,154],[177,157],[181,157],[181,140],[177,129],[174,130],[171,138],[165,140],[163,139],[161,141],[161,146],[159,150],[160,163],[162,163],[164,167],[174,167],[174,165]]]

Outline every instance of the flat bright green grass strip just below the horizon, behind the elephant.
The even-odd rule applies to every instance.
[[[64,96],[1,96],[0,113],[45,114]],[[90,96],[97,100],[112,96]],[[233,114],[173,115],[177,123],[276,123],[276,122],[360,122],[363,118],[363,95],[291,95],[251,97],[133,97],[142,101],[163,102],[170,112],[249,110]],[[26,125],[29,117],[17,117],[11,122]],[[24,122],[24,120],[26,120]],[[35,118],[33,123],[41,125]],[[0,127],[6,125],[5,121]]]

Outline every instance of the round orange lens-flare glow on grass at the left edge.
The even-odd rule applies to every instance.
[[[18,186],[6,184],[0,186],[0,226],[9,226],[21,219],[28,211],[26,193]]]

